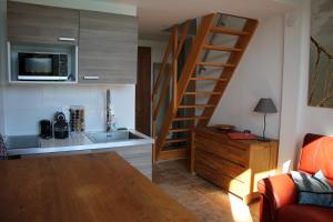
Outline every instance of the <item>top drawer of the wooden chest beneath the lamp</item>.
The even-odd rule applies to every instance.
[[[201,135],[196,135],[194,139],[194,150],[212,153],[242,167],[248,167],[249,164],[248,150],[228,145],[226,143],[219,143]]]

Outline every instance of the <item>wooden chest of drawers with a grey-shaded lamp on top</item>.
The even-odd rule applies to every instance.
[[[191,171],[250,203],[259,198],[256,182],[275,173],[278,145],[278,141],[231,140],[213,128],[196,128]]]

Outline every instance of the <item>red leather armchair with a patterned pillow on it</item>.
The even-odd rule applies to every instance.
[[[314,174],[322,170],[333,185],[333,138],[306,134],[299,171]],[[333,209],[297,204],[297,190],[290,174],[266,178],[258,183],[260,222],[333,221]]]

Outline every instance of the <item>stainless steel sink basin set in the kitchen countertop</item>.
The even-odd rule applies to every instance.
[[[120,130],[114,132],[89,132],[85,134],[93,143],[143,139],[140,135],[137,135],[128,130]]]

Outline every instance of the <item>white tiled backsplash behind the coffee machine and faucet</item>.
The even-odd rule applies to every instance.
[[[117,124],[134,129],[135,85],[18,85],[4,90],[6,134],[36,134],[39,121],[51,120],[56,111],[69,118],[70,105],[84,105],[85,131],[104,130],[107,89],[111,89]]]

